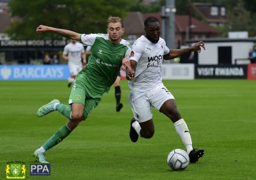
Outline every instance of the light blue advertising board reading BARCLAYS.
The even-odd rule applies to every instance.
[[[67,64],[0,65],[0,80],[67,80]]]

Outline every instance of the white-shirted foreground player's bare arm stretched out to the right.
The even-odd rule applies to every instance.
[[[185,49],[170,49],[168,54],[164,54],[164,59],[174,59],[181,56],[182,54],[185,54],[186,52],[201,52],[201,48],[205,50],[203,41],[199,41],[195,43],[195,45]]]

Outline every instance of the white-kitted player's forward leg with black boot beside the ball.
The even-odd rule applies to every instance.
[[[165,89],[165,91],[168,91],[168,90]],[[174,100],[174,97],[172,99],[164,101],[159,111],[165,114],[167,117],[169,117],[173,121],[175,130],[179,134],[180,139],[182,140],[184,146],[187,149],[190,162],[195,163],[196,161],[198,161],[198,158],[201,158],[204,155],[204,149],[196,150],[193,148],[188,125],[186,124],[184,119],[182,119],[182,117],[180,116],[180,113],[177,110],[177,105]]]

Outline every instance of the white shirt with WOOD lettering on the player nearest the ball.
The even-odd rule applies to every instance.
[[[134,79],[129,81],[130,89],[145,92],[162,84],[163,55],[170,52],[165,41],[159,38],[157,43],[152,43],[143,35],[134,42],[131,50],[130,59],[138,64]]]

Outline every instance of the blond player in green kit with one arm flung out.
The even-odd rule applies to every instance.
[[[107,93],[109,87],[115,82],[120,67],[124,66],[131,70],[129,61],[131,45],[121,38],[124,33],[123,20],[119,17],[109,17],[107,27],[108,34],[79,34],[42,25],[36,29],[39,34],[49,31],[92,46],[91,60],[77,74],[68,100],[69,105],[60,103],[59,100],[52,100],[38,109],[38,117],[58,110],[68,118],[64,126],[56,131],[44,145],[36,149],[33,155],[40,163],[49,163],[45,160],[45,151],[65,139],[97,107],[102,94]]]

